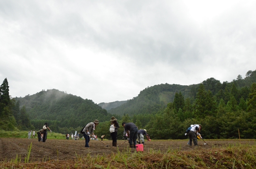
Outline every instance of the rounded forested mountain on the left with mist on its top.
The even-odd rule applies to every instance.
[[[66,94],[57,89],[42,90],[23,98],[15,98],[20,107],[25,106],[31,123],[41,128],[48,122],[51,130],[62,131],[61,128],[77,128],[98,119],[106,121],[111,115],[92,100],[82,99]]]

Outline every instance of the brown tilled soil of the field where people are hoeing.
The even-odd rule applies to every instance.
[[[255,140],[205,140],[208,144],[204,145],[203,140],[198,140],[198,146],[187,145],[188,140],[151,140],[150,142],[145,142],[144,151],[150,149],[160,150],[161,152],[166,152],[167,150],[179,150],[179,151],[189,151],[191,149],[200,148],[202,150],[210,150],[213,147],[226,147],[229,145],[237,144],[249,144],[255,145]],[[76,155],[79,157],[85,157],[88,154],[94,155],[108,155],[117,152],[117,147],[112,146],[111,140],[103,140],[104,145],[100,141],[91,140],[89,142],[90,148],[84,147],[85,140],[50,140],[47,139],[46,142],[38,142],[37,138],[25,139],[25,138],[0,138],[0,161],[10,161],[15,159],[16,156],[21,157],[24,161],[27,157],[28,147],[32,142],[32,150],[30,153],[30,159],[32,161],[42,161],[45,160],[70,160],[75,159]],[[128,150],[128,141],[123,143],[124,140],[118,140],[118,150]],[[132,149],[136,152],[136,149]]]

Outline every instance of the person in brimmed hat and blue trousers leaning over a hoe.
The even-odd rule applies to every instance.
[[[94,135],[94,130],[95,127],[99,124],[98,120],[95,120],[94,122],[88,123],[84,128],[81,130],[81,133],[83,133],[84,138],[85,138],[85,146],[84,147],[89,147],[89,141],[90,141],[90,134],[92,134],[95,138]]]

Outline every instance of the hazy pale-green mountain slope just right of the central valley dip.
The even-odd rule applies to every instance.
[[[116,108],[108,110],[109,113],[117,115],[150,114],[165,108],[168,103],[174,100],[175,92],[182,92],[185,97],[190,96],[190,91],[196,90],[198,85],[169,85],[161,84],[147,87],[140,91],[140,94],[133,99]]]

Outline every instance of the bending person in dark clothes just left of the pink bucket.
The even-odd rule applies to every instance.
[[[123,122],[122,126],[127,132],[130,148],[136,148],[136,140],[138,137],[138,127],[131,122],[130,123]]]

